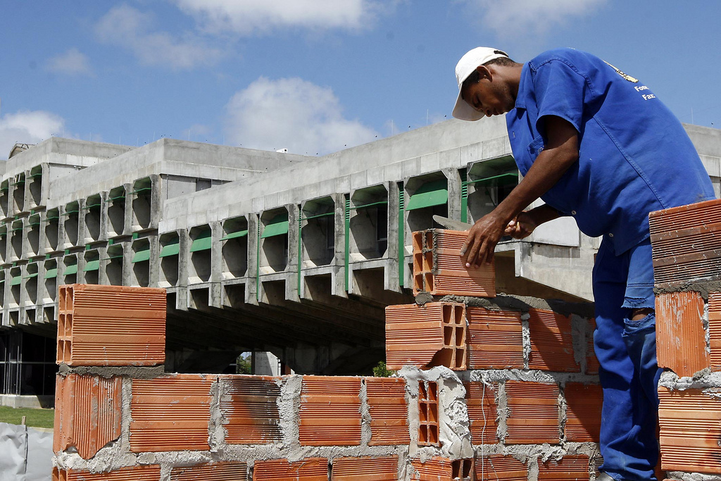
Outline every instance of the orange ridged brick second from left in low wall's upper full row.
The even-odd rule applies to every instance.
[[[131,451],[205,451],[216,376],[133,379]]]

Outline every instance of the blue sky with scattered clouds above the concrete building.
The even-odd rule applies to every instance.
[[[451,118],[454,66],[595,53],[721,126],[721,2],[0,0],[0,159],[65,136],[326,154]],[[447,116],[447,117],[446,117]],[[481,120],[482,121],[482,120]]]

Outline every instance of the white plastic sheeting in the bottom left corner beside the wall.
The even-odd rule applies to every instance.
[[[53,433],[0,423],[0,481],[46,481],[53,471]]]

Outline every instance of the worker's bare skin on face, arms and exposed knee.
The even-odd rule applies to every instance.
[[[509,112],[516,105],[523,65],[481,65],[479,81],[464,86],[463,98],[487,117]],[[480,267],[493,260],[495,246],[504,235],[516,239],[528,237],[537,226],[559,217],[549,206],[523,211],[534,200],[547,193],[565,172],[578,162],[578,131],[567,120],[549,116],[544,120],[547,141],[543,151],[507,198],[469,230],[461,250],[466,268]],[[632,319],[639,320],[653,309],[632,309]]]

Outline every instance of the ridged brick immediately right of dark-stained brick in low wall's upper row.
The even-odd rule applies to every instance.
[[[301,446],[361,444],[361,378],[304,376],[298,437]]]

